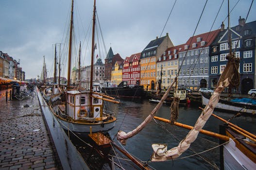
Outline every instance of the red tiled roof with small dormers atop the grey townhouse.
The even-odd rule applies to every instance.
[[[184,49],[183,51],[187,51],[187,50],[194,50],[194,49],[199,49],[199,48],[204,48],[204,47],[208,47],[210,46],[210,44],[213,42],[213,40],[215,39],[215,37],[220,33],[220,29],[219,30],[214,30],[211,32],[207,32],[204,34],[199,34],[199,35],[195,35],[194,37],[190,37],[188,39],[188,41],[186,42],[186,44],[184,44],[184,46],[188,46],[188,49]],[[200,38],[200,41],[197,42],[197,38]],[[201,42],[205,41],[205,45],[201,46]],[[191,42],[191,43],[190,43]],[[190,46],[189,46],[190,44]],[[193,44],[196,44],[196,47],[193,48]]]

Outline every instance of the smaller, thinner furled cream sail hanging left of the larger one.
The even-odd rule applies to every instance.
[[[165,92],[165,94],[163,95],[162,99],[160,102],[158,102],[158,104],[155,106],[154,110],[151,112],[151,114],[140,124],[137,126],[136,129],[134,129],[131,132],[125,133],[123,131],[119,131],[117,134],[118,140],[125,145],[126,144],[126,139],[137,135],[137,133],[139,133],[155,116],[156,112],[158,111],[158,109],[163,105],[163,102],[166,100],[169,92],[171,91],[171,87],[174,85],[174,83],[177,82],[177,77],[175,77],[175,81],[172,82],[172,84],[169,86],[168,90]]]

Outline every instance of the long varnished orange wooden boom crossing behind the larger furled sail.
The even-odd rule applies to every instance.
[[[163,122],[166,122],[166,123],[171,123],[171,120],[168,120],[168,119],[164,119],[164,118],[159,118],[159,117],[156,117],[154,116],[154,119],[157,119],[157,120],[160,120],[160,121],[163,121]],[[174,122],[174,125],[175,126],[179,126],[179,127],[182,127],[182,128],[185,128],[185,129],[189,129],[191,130],[192,128],[194,128],[193,126],[189,126],[187,124],[182,124],[182,123],[179,123],[179,122]],[[212,137],[216,137],[216,138],[219,138],[219,139],[222,139],[224,141],[228,141],[229,140],[229,137],[228,136],[224,136],[224,135],[221,135],[221,134],[217,134],[215,132],[211,132],[211,131],[206,131],[206,130],[200,130],[200,133],[202,134],[205,134],[207,136],[212,136]]]

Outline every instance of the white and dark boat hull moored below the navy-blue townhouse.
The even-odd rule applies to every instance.
[[[207,105],[210,99],[210,95],[202,93],[202,104]],[[226,100],[220,99],[218,104],[216,105],[217,109],[221,109],[223,111],[236,111],[241,113],[249,113],[251,115],[255,115],[256,113],[256,105],[248,105],[238,102],[230,102]]]

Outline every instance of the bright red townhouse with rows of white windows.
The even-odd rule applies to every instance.
[[[140,84],[140,54],[132,54],[123,61],[122,81],[126,81],[127,85]]]

